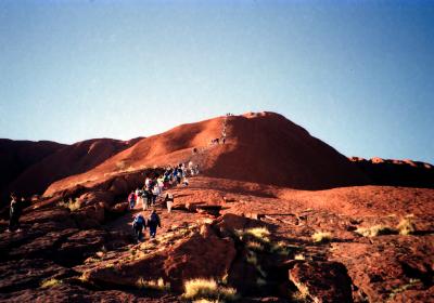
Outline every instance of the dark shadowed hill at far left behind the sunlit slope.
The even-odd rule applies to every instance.
[[[72,145],[2,141],[2,197],[8,198],[10,192],[42,194],[54,181],[88,171],[138,140],[94,139]]]

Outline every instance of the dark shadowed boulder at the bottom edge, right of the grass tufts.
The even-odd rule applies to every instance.
[[[337,262],[299,262],[290,269],[290,280],[312,302],[353,302],[352,279]]]

